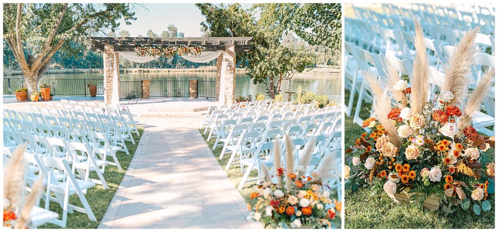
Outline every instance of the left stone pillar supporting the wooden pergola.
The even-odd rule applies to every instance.
[[[114,68],[115,68],[115,60],[114,57],[116,56],[116,71],[118,72],[117,78],[118,80],[114,80]],[[119,70],[119,54],[118,52],[114,51],[114,47],[112,45],[104,45],[104,102],[106,104],[112,104],[113,102],[119,102],[119,92],[120,92],[120,70]],[[114,86],[114,83],[118,83],[116,86]],[[115,92],[116,91],[116,92]],[[114,99],[113,101],[113,93],[114,93]],[[118,93],[118,94],[116,94]]]

